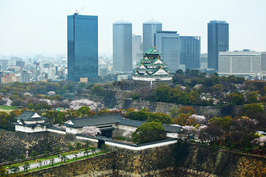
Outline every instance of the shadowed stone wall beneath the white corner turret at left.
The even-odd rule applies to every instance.
[[[25,154],[26,157],[29,157],[32,151],[43,154],[44,151],[54,152],[58,146],[67,149],[67,144],[74,144],[77,139],[72,134],[67,134],[67,136],[54,132],[29,134],[0,130],[0,142],[0,160],[4,162],[9,156],[18,159],[20,154]]]

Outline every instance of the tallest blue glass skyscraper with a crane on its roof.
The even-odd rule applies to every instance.
[[[98,77],[98,16],[67,16],[67,78]]]

